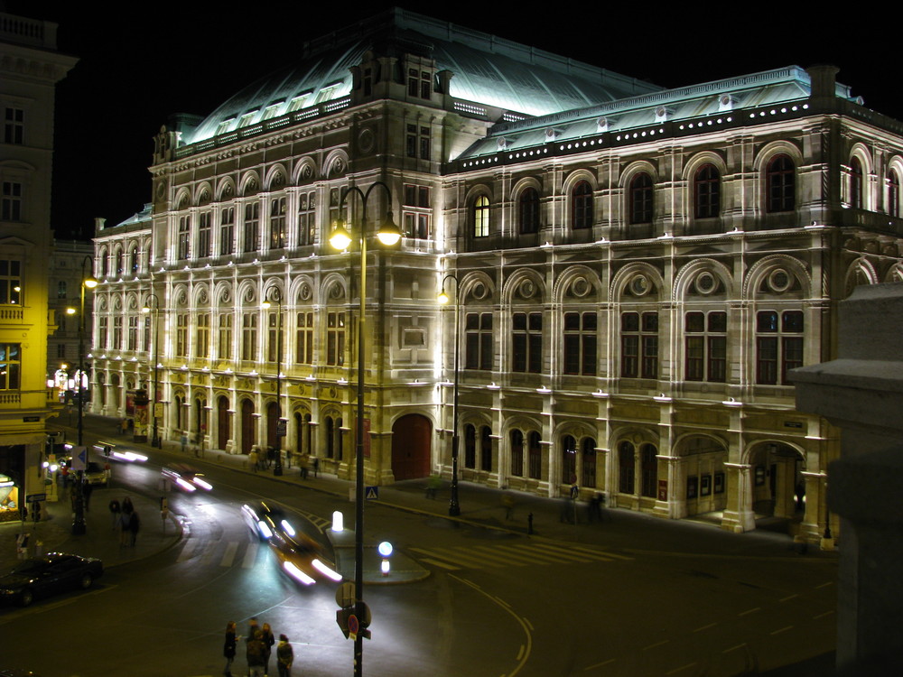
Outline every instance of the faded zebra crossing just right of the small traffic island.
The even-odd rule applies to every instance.
[[[452,548],[411,548],[424,564],[444,570],[501,569],[507,567],[588,564],[593,561],[628,561],[632,557],[580,545],[555,543],[510,543],[467,545]]]

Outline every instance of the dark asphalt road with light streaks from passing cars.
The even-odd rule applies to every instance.
[[[159,496],[154,452],[116,481]],[[0,610],[5,663],[43,677],[222,671],[228,620],[247,634],[259,617],[289,635],[296,674],[352,672],[352,645],[335,623],[334,585],[303,588],[257,543],[240,505],[265,497],[325,527],[342,498],[205,468],[209,494],[172,492],[184,528],[174,547],[107,571],[95,589]],[[105,505],[101,490],[94,500]],[[113,491],[107,490],[107,491]],[[437,511],[438,512],[438,511]],[[382,677],[735,675],[765,672],[833,650],[836,561],[738,554],[712,530],[666,550],[651,521],[617,543],[574,543],[368,504],[368,541],[386,538],[432,572],[370,586],[373,639],[364,673]],[[643,523],[640,523],[643,524]],[[576,540],[576,539],[574,539]],[[673,539],[672,539],[673,540]],[[698,554],[704,552],[705,554]],[[243,646],[235,674],[243,674]],[[275,667],[271,666],[275,673]],[[797,671],[796,674],[805,674]]]

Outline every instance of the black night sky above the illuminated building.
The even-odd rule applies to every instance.
[[[239,88],[291,62],[303,41],[393,4],[339,11],[336,3],[246,3],[228,11],[183,0],[107,5],[102,12],[89,2],[0,1],[6,12],[59,23],[61,51],[80,59],[57,89],[52,225],[58,236],[88,237],[94,217],[115,224],[142,208],[150,197],[153,137],[167,116],[206,115]],[[833,63],[841,69],[838,79],[866,106],[903,118],[903,100],[889,75],[898,57],[880,26],[826,17],[824,5],[786,5],[750,15],[734,10],[776,5],[408,6],[665,87]],[[266,14],[255,14],[255,6]],[[566,15],[557,16],[558,10]],[[714,15],[719,11],[724,14]]]

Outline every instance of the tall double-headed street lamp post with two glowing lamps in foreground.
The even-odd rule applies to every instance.
[[[358,241],[360,244],[360,301],[358,304],[358,420],[357,439],[355,440],[356,486],[354,492],[354,606],[358,621],[364,618],[364,338],[367,336],[364,327],[366,315],[364,300],[367,298],[367,200],[370,191],[377,186],[386,190],[388,202],[391,204],[392,191],[382,181],[376,181],[367,189],[360,190],[357,186],[351,186],[342,195],[339,204],[339,213],[345,207],[349,193],[357,193],[361,201],[361,218],[358,227]],[[377,233],[379,241],[386,246],[395,245],[401,238],[401,231],[392,222],[391,211],[386,212],[386,222]],[[347,249],[352,239],[348,230],[342,225],[340,219],[330,236],[330,245],[336,249]],[[360,677],[363,674],[364,636],[358,633],[354,639],[354,675]]]

